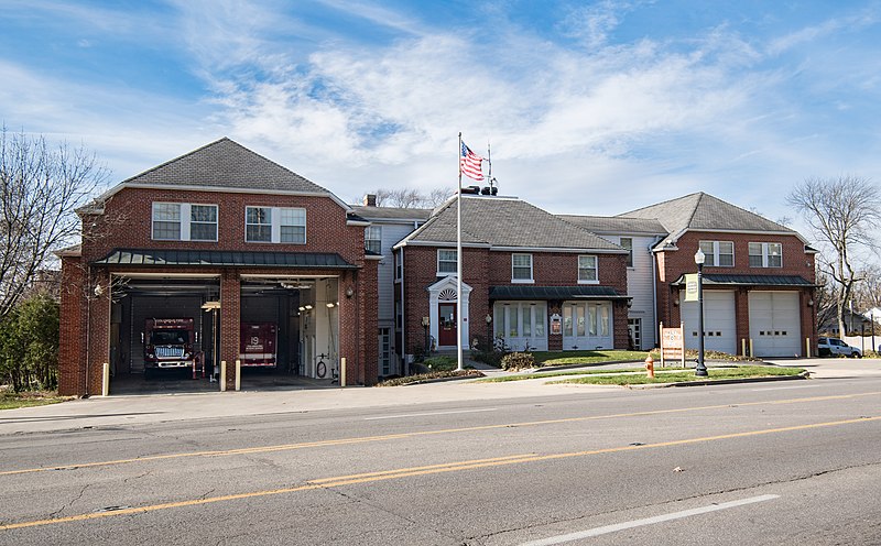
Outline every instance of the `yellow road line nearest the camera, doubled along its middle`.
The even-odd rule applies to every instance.
[[[605,454],[616,454],[616,452],[624,452],[624,451],[637,451],[641,449],[652,449],[652,448],[663,448],[663,447],[672,447],[672,446],[685,446],[689,444],[698,444],[705,441],[719,441],[725,439],[732,439],[732,438],[746,438],[750,436],[761,436],[761,435],[769,435],[769,434],[781,434],[781,433],[788,433],[795,430],[808,430],[812,428],[823,428],[823,427],[833,427],[833,426],[844,426],[844,425],[852,425],[856,423],[869,423],[873,421],[881,421],[881,416],[877,417],[860,417],[856,419],[844,419],[844,421],[831,421],[826,423],[811,423],[807,425],[795,425],[795,426],[787,426],[787,427],[776,427],[776,428],[764,428],[759,430],[748,430],[742,433],[731,433],[731,434],[721,434],[716,436],[701,436],[698,438],[685,438],[681,440],[671,440],[671,441],[660,441],[655,444],[645,444],[642,446],[621,446],[621,447],[610,447],[610,448],[602,448],[602,449],[591,449],[586,451],[570,451],[570,452],[563,452],[563,454],[547,454],[547,455],[511,455],[505,457],[497,457],[491,459],[476,459],[476,460],[466,460],[466,461],[458,461],[458,462],[448,462],[442,465],[431,465],[431,466],[423,466],[423,467],[411,467],[411,468],[400,468],[394,470],[387,470],[381,472],[367,472],[362,474],[352,474],[352,476],[338,476],[334,478],[323,478],[318,480],[311,480],[303,485],[296,485],[292,488],[283,488],[283,489],[271,489],[265,491],[252,491],[248,493],[236,493],[236,494],[228,494],[228,495],[220,495],[220,496],[209,496],[206,499],[191,499],[186,501],[177,501],[177,502],[166,502],[162,504],[150,504],[145,506],[137,506],[137,507],[129,507],[129,509],[121,509],[115,510],[110,512],[91,512],[88,514],[77,514],[70,515],[66,517],[55,517],[55,518],[46,518],[46,520],[34,520],[29,522],[20,522],[20,523],[10,523],[6,525],[0,525],[0,531],[12,531],[18,528],[25,528],[25,527],[37,527],[43,525],[57,525],[62,523],[72,523],[72,522],[83,522],[89,520],[98,520],[102,517],[111,517],[118,515],[131,515],[131,514],[142,514],[148,512],[156,512],[160,510],[171,510],[171,509],[181,509],[187,506],[197,506],[204,504],[211,504],[216,502],[230,502],[230,501],[239,501],[243,499],[253,499],[259,496],[273,496],[273,495],[281,495],[287,493],[296,493],[300,491],[309,491],[316,489],[327,489],[334,487],[342,487],[342,485],[352,485],[359,483],[370,483],[377,481],[387,481],[387,480],[399,480],[402,478],[409,478],[413,476],[428,476],[428,474],[437,474],[437,473],[445,473],[445,472],[458,472],[464,470],[474,470],[479,468],[490,468],[490,467],[501,467],[507,465],[521,465],[526,462],[537,462],[537,461],[547,461],[554,459],[565,459],[565,458],[574,458],[574,457],[588,457],[591,455],[605,455]]]

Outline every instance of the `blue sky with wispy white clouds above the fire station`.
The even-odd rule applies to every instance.
[[[872,0],[2,0],[0,121],[111,185],[228,136],[347,203],[454,192],[461,132],[551,212],[706,192],[798,229],[794,185],[881,183],[880,26]]]

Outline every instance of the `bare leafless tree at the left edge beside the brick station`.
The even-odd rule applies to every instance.
[[[0,318],[15,306],[52,252],[79,233],[75,209],[104,183],[94,154],[43,136],[0,133]]]

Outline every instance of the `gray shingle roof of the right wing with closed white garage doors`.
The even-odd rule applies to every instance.
[[[795,234],[795,231],[790,228],[703,192],[618,216],[655,219],[664,226],[667,232],[674,236],[686,229],[701,231],[773,231]]]

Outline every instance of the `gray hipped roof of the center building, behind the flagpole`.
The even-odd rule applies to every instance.
[[[457,205],[453,197],[398,245],[455,244]],[[529,249],[626,252],[597,234],[509,197],[463,195],[463,244]]]

